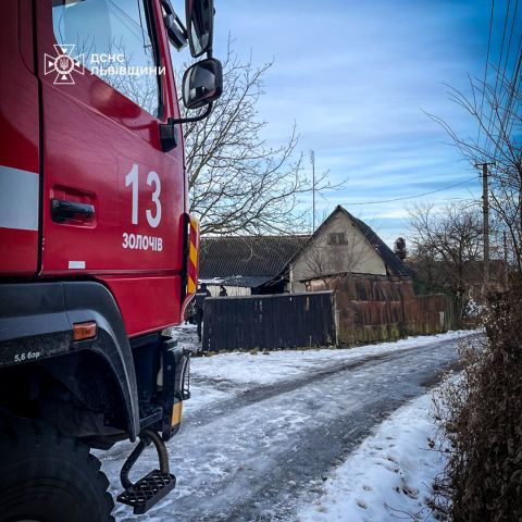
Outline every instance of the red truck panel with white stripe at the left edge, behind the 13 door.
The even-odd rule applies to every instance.
[[[30,2],[1,2],[0,275],[30,276],[38,262],[38,83]]]

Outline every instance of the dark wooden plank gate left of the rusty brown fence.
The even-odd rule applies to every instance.
[[[304,348],[336,343],[332,291],[204,301],[203,350]]]

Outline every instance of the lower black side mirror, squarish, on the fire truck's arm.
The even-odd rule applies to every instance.
[[[183,102],[187,109],[198,109],[216,100],[223,91],[221,62],[208,58],[195,63],[183,76]]]

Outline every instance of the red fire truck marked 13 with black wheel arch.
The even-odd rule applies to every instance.
[[[222,91],[211,0],[0,3],[0,521],[113,520],[91,448],[130,439],[121,502],[175,486],[197,284],[182,124]],[[192,58],[181,90],[175,71]],[[187,57],[188,58],[188,57]],[[186,59],[185,59],[186,60]],[[145,447],[159,469],[137,482]],[[171,445],[175,447],[175,445]]]

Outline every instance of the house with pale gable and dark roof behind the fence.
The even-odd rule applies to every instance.
[[[413,272],[370,226],[338,206],[312,235],[201,239],[200,281],[213,295],[304,291],[316,278],[358,273],[410,277]]]

